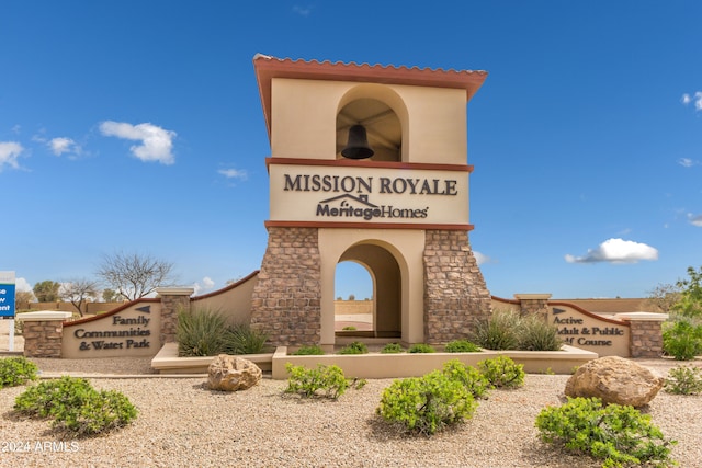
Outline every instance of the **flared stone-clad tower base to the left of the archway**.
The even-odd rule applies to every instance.
[[[319,344],[321,259],[316,228],[268,230],[251,301],[251,328],[275,345]]]

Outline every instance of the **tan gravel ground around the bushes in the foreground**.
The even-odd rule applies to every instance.
[[[369,380],[338,401],[302,400],[283,393],[286,381],[267,378],[235,393],[205,389],[203,377],[149,378],[146,358],[33,361],[43,376],[92,375],[93,386],[122,391],[139,415],[129,426],[106,436],[71,440],[50,432],[46,421],[21,419],[11,412],[24,387],[2,389],[1,467],[600,466],[539,441],[534,420],[544,407],[564,401],[568,376],[528,375],[519,390],[492,391],[464,424],[424,437],[401,435],[374,414],[389,379]],[[661,375],[676,364],[666,359],[639,363]],[[141,378],[114,378],[116,374]],[[673,457],[681,467],[702,467],[702,397],[661,391],[645,411],[667,437],[679,441]]]

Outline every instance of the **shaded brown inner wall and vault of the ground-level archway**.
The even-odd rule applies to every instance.
[[[370,306],[369,327],[364,330],[335,330],[337,336],[361,336],[378,339],[401,339],[401,274],[395,256],[376,244],[356,244],[349,248],[339,259],[355,262],[366,270],[373,281],[373,296]],[[335,317],[337,308],[335,307]]]

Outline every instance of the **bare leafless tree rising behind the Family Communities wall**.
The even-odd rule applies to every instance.
[[[172,286],[173,264],[138,253],[104,255],[97,274],[121,297],[135,300],[157,287]]]

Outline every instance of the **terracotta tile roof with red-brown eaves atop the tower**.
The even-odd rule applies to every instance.
[[[469,101],[487,77],[487,71],[485,70],[444,70],[440,68],[395,67],[377,64],[331,62],[329,60],[293,60],[263,54],[253,56],[253,68],[269,134],[271,128],[271,80],[273,78],[463,89],[466,91],[466,101]]]

